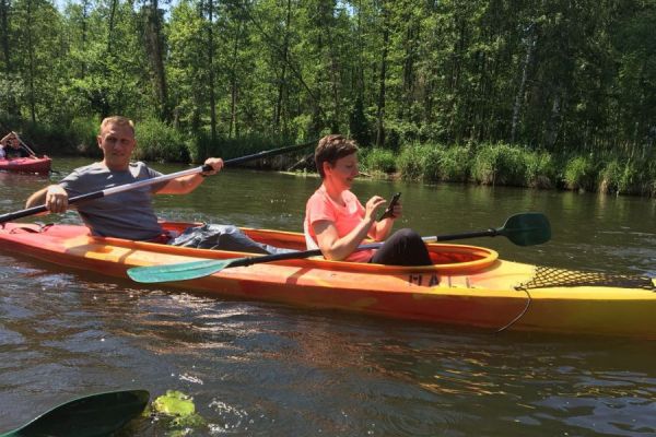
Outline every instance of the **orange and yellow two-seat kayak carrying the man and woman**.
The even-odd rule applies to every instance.
[[[183,231],[191,224],[165,223]],[[304,250],[302,234],[244,229],[251,238]],[[429,267],[390,267],[318,258],[234,267],[185,282],[186,291],[355,311],[489,331],[523,330],[656,339],[656,284],[504,261],[491,249],[427,245]],[[67,268],[128,277],[132,267],[249,253],[173,247],[89,235],[86,227],[8,223],[0,248]]]

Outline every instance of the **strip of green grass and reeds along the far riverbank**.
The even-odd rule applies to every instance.
[[[95,143],[97,123],[80,120],[68,127],[21,123],[23,138],[37,153],[50,156],[99,157]],[[19,127],[16,127],[19,130]],[[276,135],[248,134],[214,140],[204,133],[185,135],[156,120],[144,120],[137,129],[139,146],[134,160],[150,162],[200,163],[207,156],[226,160],[306,143],[296,154],[274,156],[247,164],[251,168],[280,172],[315,172],[313,150],[317,139],[298,141]],[[641,156],[621,149],[591,153],[560,153],[532,150],[507,143],[410,143],[398,147],[362,147],[361,172],[383,179],[459,182],[483,186],[512,186],[656,197],[656,163],[651,147]]]

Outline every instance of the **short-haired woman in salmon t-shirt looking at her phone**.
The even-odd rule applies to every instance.
[[[340,134],[324,137],[315,150],[315,164],[321,186],[305,208],[304,233],[308,249],[320,249],[329,260],[374,262],[395,265],[432,264],[421,237],[412,229],[400,229],[377,250],[355,250],[370,238],[387,238],[394,222],[402,214],[400,203],[389,216],[376,221],[377,212],[386,204],[379,196],[363,206],[350,191],[359,175],[358,145]]]

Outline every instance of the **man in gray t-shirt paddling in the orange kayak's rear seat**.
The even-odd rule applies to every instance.
[[[49,212],[62,213],[67,211],[71,197],[162,176],[142,162],[130,162],[137,146],[132,120],[120,116],[105,118],[101,123],[97,143],[103,151],[102,162],[77,168],[59,184],[36,191],[27,199],[26,208],[45,204]],[[223,168],[223,160],[209,157],[204,165],[211,169],[83,201],[77,203],[75,208],[92,235],[99,237],[259,253],[276,252],[274,248],[269,250],[269,246],[250,240],[235,226],[195,226],[177,238],[162,229],[153,210],[152,194],[191,192],[202,184],[206,176],[214,175]]]

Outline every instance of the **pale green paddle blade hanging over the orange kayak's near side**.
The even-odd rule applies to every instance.
[[[128,269],[128,276],[142,283],[188,281],[220,272],[235,259],[201,260],[179,264],[147,265]]]

